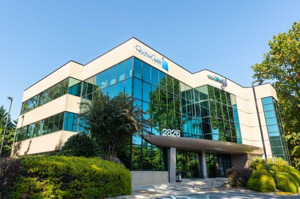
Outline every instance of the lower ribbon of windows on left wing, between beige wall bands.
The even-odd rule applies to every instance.
[[[77,132],[78,114],[61,112],[16,130],[15,142],[35,138],[57,131]]]

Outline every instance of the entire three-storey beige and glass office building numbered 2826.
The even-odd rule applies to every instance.
[[[263,155],[251,87],[207,69],[190,73],[131,38],[85,65],[69,61],[27,88],[11,156],[59,150],[84,131],[80,102],[100,92],[132,97],[150,121],[119,156],[133,186],[174,182],[176,170],[183,178],[224,177]],[[255,92],[266,155],[290,162],[276,92],[269,83]]]

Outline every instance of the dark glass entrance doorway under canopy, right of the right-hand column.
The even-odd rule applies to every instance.
[[[205,158],[208,178],[227,177],[226,171],[231,168],[230,156],[206,153]]]

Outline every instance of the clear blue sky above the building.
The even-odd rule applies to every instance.
[[[134,36],[191,72],[250,86],[268,40],[300,20],[299,0],[0,0],[0,105],[69,60],[85,64]]]

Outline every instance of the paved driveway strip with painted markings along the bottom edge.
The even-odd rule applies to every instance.
[[[262,195],[232,191],[197,192],[187,195],[152,197],[151,199],[300,199],[300,195]]]

